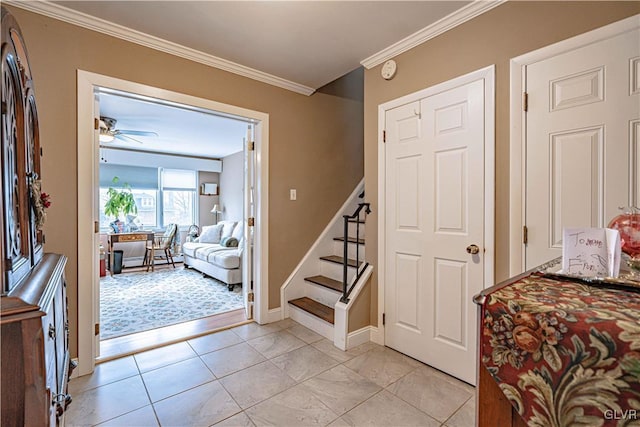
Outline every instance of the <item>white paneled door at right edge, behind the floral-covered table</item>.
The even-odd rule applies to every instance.
[[[640,30],[526,67],[525,267],[640,204]]]

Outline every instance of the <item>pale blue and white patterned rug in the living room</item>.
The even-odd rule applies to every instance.
[[[242,288],[182,267],[100,278],[100,339],[147,331],[243,307]]]

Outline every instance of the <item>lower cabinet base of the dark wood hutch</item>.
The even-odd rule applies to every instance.
[[[0,311],[4,426],[62,425],[69,366],[69,322],[62,255],[46,254]]]

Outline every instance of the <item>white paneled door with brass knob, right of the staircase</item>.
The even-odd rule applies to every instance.
[[[485,122],[493,105],[485,101],[492,71],[438,85],[385,114],[385,344],[471,384],[472,298],[485,285],[485,149],[490,145],[492,153],[494,143],[485,133],[493,127]]]

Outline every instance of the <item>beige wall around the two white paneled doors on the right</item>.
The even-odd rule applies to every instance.
[[[640,13],[639,2],[508,2],[394,58],[393,80],[380,66],[365,71],[365,188],[367,260],[377,265],[378,105],[471,71],[496,66],[495,279],[509,271],[509,60],[557,41]],[[377,323],[377,270],[371,321]]]

